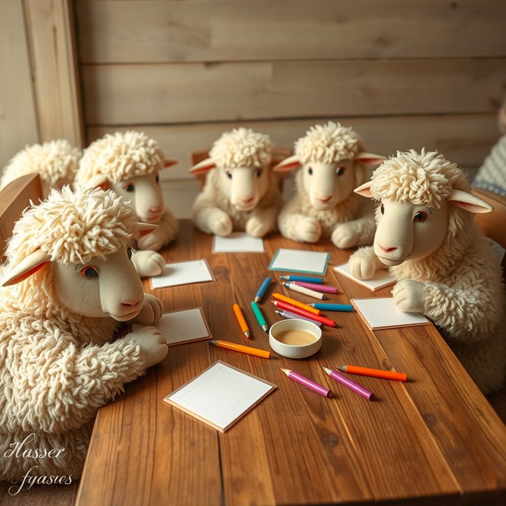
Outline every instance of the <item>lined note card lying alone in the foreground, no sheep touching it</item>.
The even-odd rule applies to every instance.
[[[163,400],[225,432],[275,388],[219,360]]]

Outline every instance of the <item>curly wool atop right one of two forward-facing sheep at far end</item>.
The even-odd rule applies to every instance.
[[[301,163],[319,161],[335,163],[352,160],[361,151],[361,140],[352,129],[329,121],[314,125],[295,143],[295,154]]]

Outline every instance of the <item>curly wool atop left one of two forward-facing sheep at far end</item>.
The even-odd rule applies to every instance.
[[[209,151],[219,167],[268,167],[272,143],[268,135],[237,128],[225,132]]]

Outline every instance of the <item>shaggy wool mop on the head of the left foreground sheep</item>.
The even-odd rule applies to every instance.
[[[47,200],[31,205],[14,225],[7,247],[9,262],[18,263],[36,249],[60,263],[105,259],[137,234],[132,207],[111,190],[52,190]]]

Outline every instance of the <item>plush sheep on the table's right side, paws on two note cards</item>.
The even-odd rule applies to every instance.
[[[357,250],[349,268],[368,279],[389,266],[399,309],[433,320],[487,393],[504,379],[504,294],[497,256],[473,222],[473,213],[492,208],[470,190],[465,174],[440,154],[398,152],[355,190],[381,205],[374,246]]]

